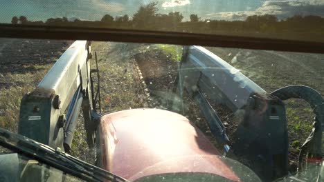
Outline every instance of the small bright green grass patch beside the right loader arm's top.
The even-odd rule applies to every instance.
[[[156,44],[156,48],[162,50],[172,61],[180,61],[182,56],[181,45]]]

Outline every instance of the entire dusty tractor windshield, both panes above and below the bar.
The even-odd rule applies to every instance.
[[[0,4],[0,27],[324,42],[324,1]],[[324,179],[324,54],[10,37],[0,34],[0,128],[57,154],[125,181]],[[78,176],[6,147],[10,137],[0,135],[0,181],[14,174],[18,181],[47,181],[52,169],[54,181]],[[28,166],[37,168],[28,174]]]

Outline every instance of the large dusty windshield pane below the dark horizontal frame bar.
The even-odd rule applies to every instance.
[[[129,181],[321,176],[323,54],[1,38],[0,65],[1,128]]]

